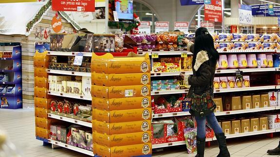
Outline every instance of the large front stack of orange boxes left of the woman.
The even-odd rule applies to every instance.
[[[102,157],[151,155],[149,54],[92,56],[93,152]]]

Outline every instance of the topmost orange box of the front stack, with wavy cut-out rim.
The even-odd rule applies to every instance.
[[[142,73],[150,71],[149,54],[130,52],[125,57],[114,57],[111,53],[98,56],[93,53],[91,71],[98,73]]]

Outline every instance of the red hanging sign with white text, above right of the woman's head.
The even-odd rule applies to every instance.
[[[206,21],[222,22],[222,1],[211,0],[211,4],[204,5],[204,19]]]

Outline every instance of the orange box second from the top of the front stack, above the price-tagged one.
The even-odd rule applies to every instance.
[[[150,83],[150,73],[104,74],[92,73],[92,84],[97,86],[132,86]]]

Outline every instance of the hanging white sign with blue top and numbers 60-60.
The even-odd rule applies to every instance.
[[[239,23],[240,24],[252,24],[252,7],[250,5],[239,4]]]

